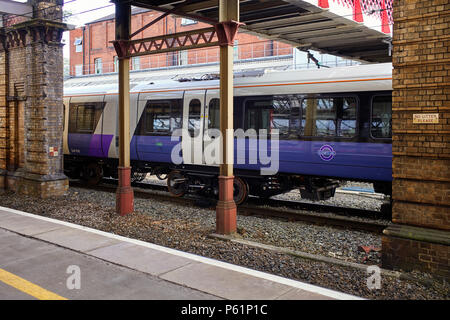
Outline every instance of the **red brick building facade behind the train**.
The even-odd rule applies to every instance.
[[[159,17],[162,13],[133,8],[131,30],[138,30]],[[155,37],[171,33],[209,27],[208,24],[169,15],[133,39]],[[103,74],[116,72],[117,55],[112,41],[115,40],[114,15],[87,23],[70,31],[70,76]],[[240,33],[235,41],[235,59],[257,59],[292,55],[292,46],[266,40],[254,35]],[[135,57],[131,70],[164,68],[171,66],[218,63],[218,48],[169,52],[150,56]]]

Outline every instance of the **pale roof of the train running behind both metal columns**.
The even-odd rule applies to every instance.
[[[235,86],[252,85],[273,85],[283,83],[293,84],[314,84],[314,83],[332,83],[332,82],[351,82],[353,80],[389,80],[392,78],[392,64],[365,64],[348,67],[334,67],[321,69],[303,69],[303,70],[254,70],[248,72],[235,73]],[[192,74],[190,76],[168,79],[164,76],[148,77],[131,80],[130,92],[151,92],[163,90],[186,90],[186,89],[211,89],[218,88],[218,74]],[[391,85],[389,88],[392,89]],[[92,95],[92,94],[114,94],[118,93],[118,79],[103,77],[90,77],[85,81],[70,83],[65,82],[64,95]]]

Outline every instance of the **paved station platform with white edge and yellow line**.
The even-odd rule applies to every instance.
[[[73,266],[80,271],[79,289],[73,288],[75,282],[70,278],[75,275]],[[68,283],[72,284],[71,289]],[[52,297],[70,300],[360,299],[198,255],[0,207],[0,299]]]

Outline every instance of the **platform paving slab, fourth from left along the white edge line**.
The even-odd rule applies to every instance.
[[[202,263],[189,264],[160,278],[233,300],[272,300],[292,289],[284,284]]]

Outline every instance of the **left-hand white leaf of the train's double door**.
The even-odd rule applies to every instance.
[[[186,91],[183,101],[182,153],[185,164],[204,164],[205,90]]]

